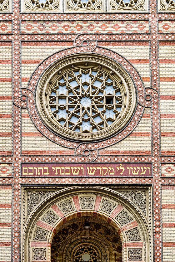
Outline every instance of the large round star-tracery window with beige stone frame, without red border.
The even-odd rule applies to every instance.
[[[46,70],[36,102],[55,133],[76,140],[101,139],[127,124],[136,104],[135,88],[127,72],[107,60],[93,54],[75,61],[66,57]]]

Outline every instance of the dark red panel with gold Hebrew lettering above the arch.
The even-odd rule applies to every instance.
[[[22,163],[22,177],[150,177],[151,163]]]

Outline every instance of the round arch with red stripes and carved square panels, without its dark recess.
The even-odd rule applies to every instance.
[[[37,196],[38,191],[35,194]],[[59,229],[73,222],[83,223],[87,216],[91,223],[100,221],[116,232],[122,245],[123,261],[150,261],[151,232],[143,212],[120,191],[97,186],[50,191],[34,207],[22,233],[22,246],[27,246],[23,261],[51,262],[52,241]]]

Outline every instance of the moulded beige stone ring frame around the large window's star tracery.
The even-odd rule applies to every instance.
[[[105,74],[111,75],[115,83],[118,83],[123,98],[121,111],[113,123],[97,132],[75,132],[66,128],[53,116],[49,106],[49,95],[54,83],[66,72],[80,68],[84,70],[93,68],[96,71],[100,69]],[[70,140],[92,142],[113,136],[129,122],[136,107],[136,89],[128,72],[116,61],[102,55],[80,53],[65,56],[45,70],[37,84],[36,105],[42,121],[54,133]]]

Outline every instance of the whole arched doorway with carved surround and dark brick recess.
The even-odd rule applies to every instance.
[[[27,192],[22,261],[150,262],[150,225],[143,205],[126,192],[97,186]],[[147,195],[133,194],[139,201]],[[86,217],[88,230],[83,229]]]

